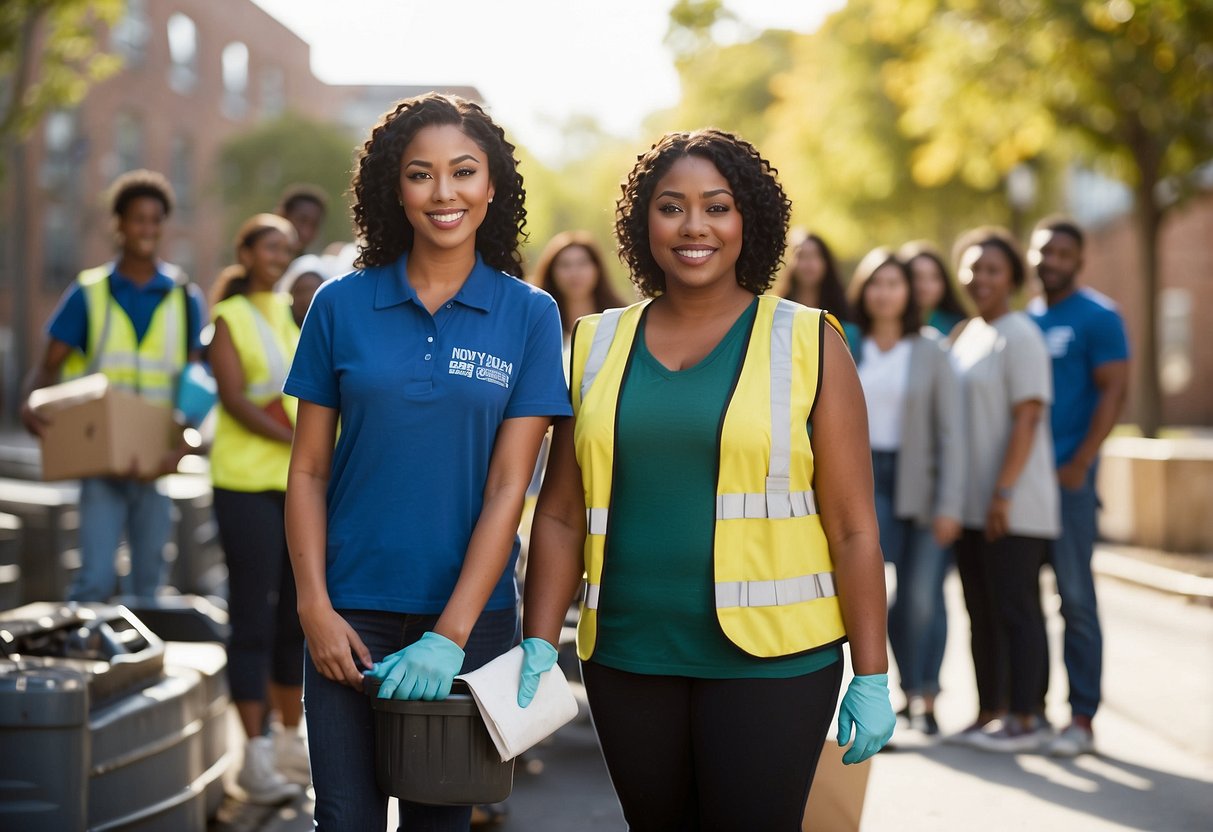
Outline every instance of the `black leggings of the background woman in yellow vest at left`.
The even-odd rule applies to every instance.
[[[286,552],[281,491],[215,489],[228,566],[228,682],[237,702],[264,702],[266,680],[303,684],[303,628]]]

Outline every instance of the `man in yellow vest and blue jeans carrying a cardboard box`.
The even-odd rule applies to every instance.
[[[21,416],[41,435],[46,422],[29,408],[29,393],[62,377],[103,372],[118,388],[165,408],[188,361],[201,359],[204,302],[181,269],[158,258],[173,195],[167,179],[137,170],[110,188],[120,253],[115,262],[80,273],[47,324],[41,359],[25,378]],[[164,546],[171,507],[155,479],[177,469],[190,448],[182,440],[152,477],[91,477],[80,483],[80,569],[69,600],[103,602],[114,594],[114,555],[126,534],[131,570],[123,593],[152,597],[164,580]]]

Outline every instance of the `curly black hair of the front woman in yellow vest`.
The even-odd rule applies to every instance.
[[[744,222],[738,284],[762,295],[784,262],[792,203],[775,178],[778,171],[753,144],[713,127],[666,133],[648,153],[637,156],[636,167],[621,186],[623,194],[615,206],[615,239],[632,283],[645,297],[666,290],[666,275],[649,244],[649,203],[661,177],[685,156],[707,159],[729,182]]]

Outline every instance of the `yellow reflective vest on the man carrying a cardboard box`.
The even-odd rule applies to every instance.
[[[89,348],[73,351],[63,364],[63,377],[103,372],[113,387],[172,408],[188,359],[186,289],[178,285],[165,295],[139,341],[130,315],[109,291],[112,270],[113,266],[98,266],[76,277],[89,313]]]

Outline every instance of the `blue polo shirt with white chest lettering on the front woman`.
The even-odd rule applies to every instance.
[[[341,414],[326,554],[337,609],[440,612],[480,515],[501,422],[573,414],[551,296],[477,256],[431,315],[405,258],[320,287],[285,386]],[[517,558],[516,536],[485,609],[517,603]]]

